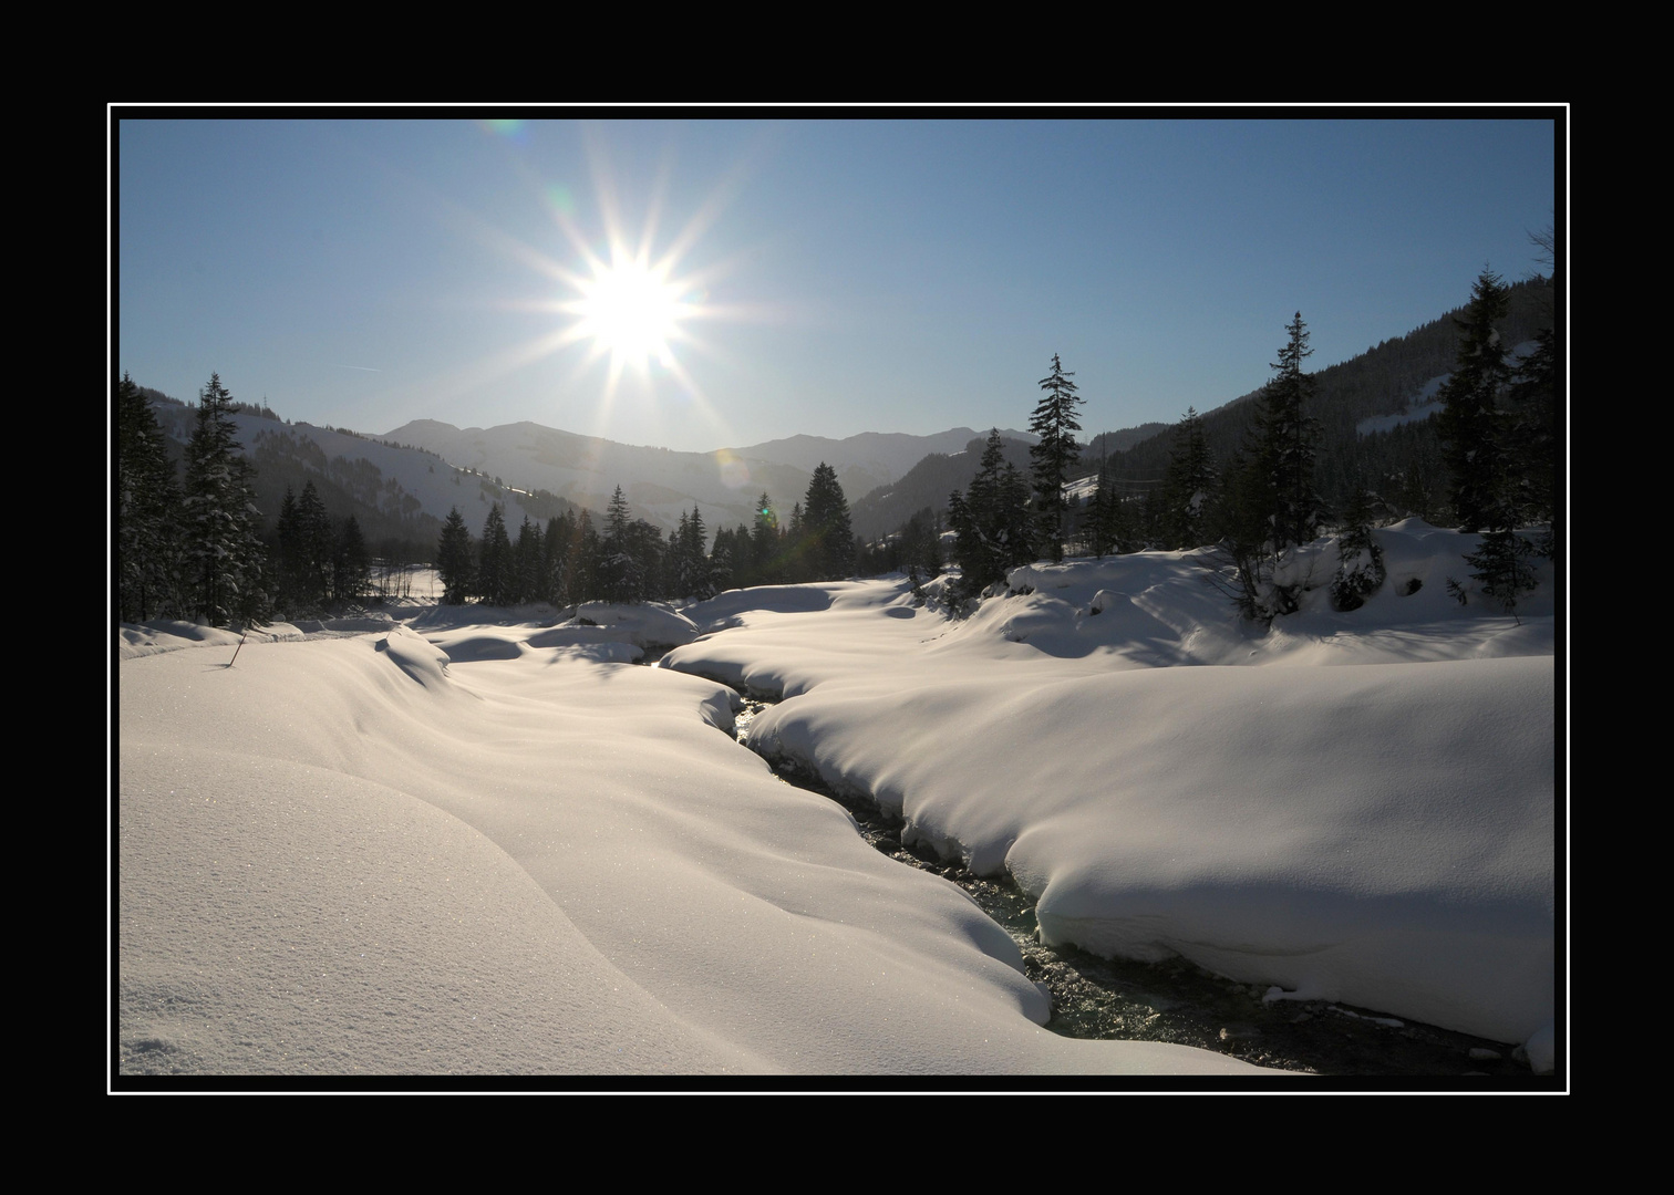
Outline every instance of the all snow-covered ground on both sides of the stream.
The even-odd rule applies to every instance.
[[[705,676],[782,691],[753,743],[1011,870],[1055,941],[1540,1059],[1550,584],[1517,624],[1445,594],[1471,537],[1378,534],[1379,594],[1267,634],[1194,554],[1023,569],[964,621],[884,579],[278,628],[233,668],[126,628],[119,1073],[1267,1074],[1041,1029],[1009,937],[773,778]]]

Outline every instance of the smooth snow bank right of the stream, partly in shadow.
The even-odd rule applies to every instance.
[[[1525,1041],[1553,1016],[1550,598],[1460,606],[1476,537],[1378,541],[1366,606],[1331,611],[1316,569],[1266,634],[1158,552],[1018,569],[964,623],[904,582],[732,599],[663,664],[782,690],[752,746],[1009,870],[1050,941]]]

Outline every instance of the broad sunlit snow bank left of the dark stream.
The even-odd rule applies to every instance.
[[[124,1074],[1259,1073],[1046,1033],[1004,931],[716,733],[728,690],[547,629],[121,664]]]

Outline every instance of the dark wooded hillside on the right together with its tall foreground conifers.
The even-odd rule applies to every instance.
[[[1334,601],[1353,609],[1381,584],[1371,527],[1416,515],[1483,532],[1466,559],[1471,577],[1515,613],[1533,586],[1530,556],[1560,551],[1553,281],[1508,286],[1485,269],[1463,310],[1319,373],[1306,368],[1312,350],[1301,311],[1284,336],[1272,380],[1254,395],[1207,417],[1189,408],[1172,430],[1125,452],[1095,437],[1080,457],[1100,459],[1096,487],[1080,487],[1081,497],[1068,497],[1066,482],[1090,470],[1073,469],[1073,440],[1060,432],[1080,397],[1053,356],[1031,422],[1041,437],[1031,449],[1033,497],[1013,465],[1003,469],[998,430],[974,480],[949,497],[961,591],[974,596],[1036,557],[1212,546],[1227,598],[1271,621],[1297,609],[1297,549],[1336,529],[1344,561]],[[1530,341],[1533,351],[1512,355]],[[1418,398],[1441,375],[1435,417],[1361,430],[1386,413],[1391,393]]]

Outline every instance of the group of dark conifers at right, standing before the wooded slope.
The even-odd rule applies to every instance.
[[[1004,459],[994,430],[971,485],[949,495],[959,596],[978,596],[1011,569],[1040,557],[1061,561],[1065,552],[1101,557],[1214,546],[1227,596],[1245,616],[1266,621],[1297,609],[1307,581],[1296,571],[1297,549],[1329,522],[1339,532],[1333,601],[1353,609],[1383,582],[1371,529],[1416,514],[1481,532],[1480,551],[1466,557],[1471,577],[1515,613],[1517,598],[1535,584],[1530,557],[1560,551],[1557,333],[1548,323],[1535,336],[1535,351],[1513,360],[1502,336],[1508,295],[1505,281],[1483,269],[1455,320],[1456,355],[1438,393],[1441,413],[1386,433],[1406,445],[1404,469],[1368,467],[1368,459],[1351,452],[1339,454],[1346,460],[1322,460],[1317,378],[1304,370],[1312,350],[1297,311],[1286,325],[1274,377],[1247,403],[1244,433],[1230,454],[1210,447],[1204,418],[1189,408],[1153,484],[1133,487],[1123,477],[1128,462],[1107,457],[1096,489],[1070,500],[1081,398],[1075,375],[1055,355],[1038,383],[1043,397],[1030,430],[1040,442],[1030,469]],[[1336,510],[1321,497],[1321,475],[1329,469],[1339,470]],[[914,536],[936,519],[934,510],[916,515]],[[1543,531],[1522,534],[1527,527]],[[1463,601],[1463,586],[1451,587]]]

